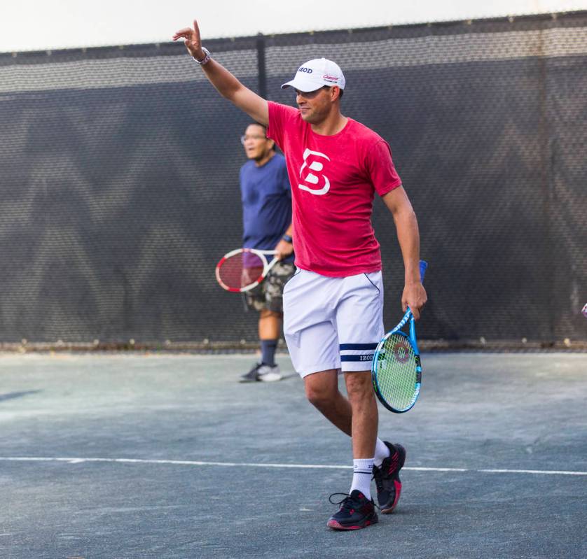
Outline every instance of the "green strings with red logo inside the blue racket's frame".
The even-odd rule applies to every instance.
[[[390,406],[403,410],[413,402],[416,382],[416,355],[413,347],[406,337],[392,334],[385,340],[379,354],[379,392]]]

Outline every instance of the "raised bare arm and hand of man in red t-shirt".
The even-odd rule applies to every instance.
[[[179,38],[184,39],[188,52],[196,60],[203,60],[205,58],[206,55],[202,50],[202,41],[200,39],[200,29],[196,20],[193,22],[193,29],[191,27],[185,27],[174,34],[174,41],[177,41]],[[268,125],[269,109],[267,101],[263,97],[259,97],[255,92],[249,90],[248,87],[244,87],[233,74],[212,58],[205,64],[202,64],[202,70],[222,97],[231,101],[259,124]]]

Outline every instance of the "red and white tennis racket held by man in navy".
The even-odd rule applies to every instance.
[[[269,270],[279,262],[275,250],[256,250],[255,248],[237,248],[230,250],[216,264],[216,280],[227,291],[244,293],[261,283]],[[274,256],[267,261],[267,256]]]

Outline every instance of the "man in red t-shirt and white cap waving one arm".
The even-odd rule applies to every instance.
[[[383,513],[399,500],[406,451],[377,437],[378,409],[371,362],[383,334],[379,243],[371,227],[377,192],[392,213],[403,264],[401,303],[415,319],[426,303],[420,281],[420,235],[388,144],[340,113],[345,77],[337,64],[314,59],[282,85],[298,108],[265,101],[244,87],[202,47],[197,22],[177,31],[219,93],[267,126],[286,157],[298,270],[284,289],[284,335],[310,402],[351,436],[354,472],[349,494],[327,523],[355,530],[378,521],[371,500],[375,477]],[[338,390],[345,374],[348,398]]]

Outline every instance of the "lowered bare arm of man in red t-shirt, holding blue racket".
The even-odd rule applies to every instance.
[[[414,318],[420,318],[420,311],[426,304],[427,295],[420,281],[420,232],[416,214],[403,187],[394,188],[382,197],[385,205],[394,216],[397,240],[403,257],[405,285],[401,295],[401,306],[406,311],[409,306]]]

